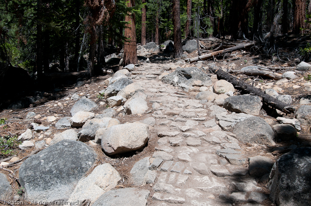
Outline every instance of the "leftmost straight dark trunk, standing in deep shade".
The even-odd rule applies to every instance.
[[[42,18],[42,1],[37,0],[37,36],[36,36],[36,67],[37,67],[37,79],[41,79],[43,75],[43,63],[42,63],[42,24],[39,22]]]

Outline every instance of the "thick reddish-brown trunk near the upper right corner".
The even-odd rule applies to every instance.
[[[306,0],[295,0],[294,2],[294,21],[293,21],[293,33],[302,34],[303,31],[300,28],[304,28]]]

